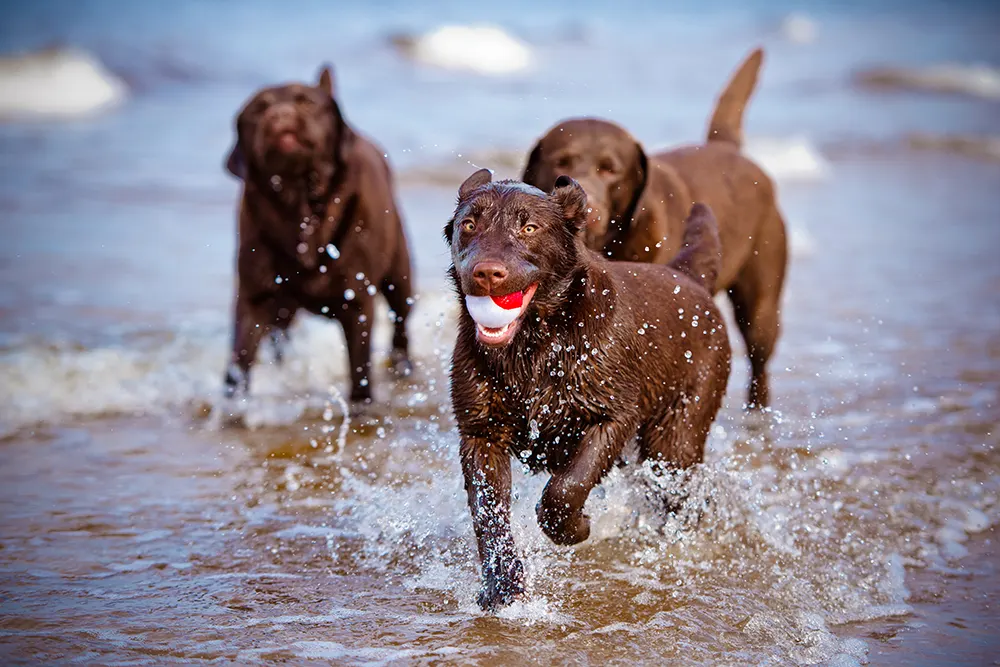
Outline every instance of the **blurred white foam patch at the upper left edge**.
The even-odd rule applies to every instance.
[[[0,59],[0,116],[87,116],[112,109],[127,96],[125,83],[85,51]]]

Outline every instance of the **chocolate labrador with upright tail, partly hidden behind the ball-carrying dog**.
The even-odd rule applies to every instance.
[[[716,104],[704,144],[647,156],[621,127],[581,118],[559,123],[535,145],[522,179],[543,190],[556,178],[587,192],[587,245],[615,260],[666,263],[681,247],[692,202],[718,217],[727,290],[751,365],[748,405],[768,405],[767,362],[778,338],[787,264],[785,223],[775,187],[740,152],[743,110],[757,83],[763,52],[755,50]]]

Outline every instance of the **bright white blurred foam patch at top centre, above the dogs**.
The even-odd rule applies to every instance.
[[[532,64],[527,44],[492,25],[446,25],[416,37],[408,49],[417,62],[484,75],[513,74]]]

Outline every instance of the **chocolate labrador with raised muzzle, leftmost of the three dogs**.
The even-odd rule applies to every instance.
[[[351,400],[370,402],[377,292],[395,326],[392,369],[408,375],[412,273],[392,176],[383,151],[344,120],[330,69],[315,86],[290,83],[251,97],[226,165],[243,181],[227,394],[249,389],[262,337],[280,340],[305,310],[340,321]]]

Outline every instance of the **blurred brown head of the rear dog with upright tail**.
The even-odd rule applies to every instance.
[[[648,174],[646,153],[628,132],[581,118],[549,130],[532,149],[521,178],[546,191],[560,176],[583,186],[588,202],[584,238],[600,251],[631,222]]]

